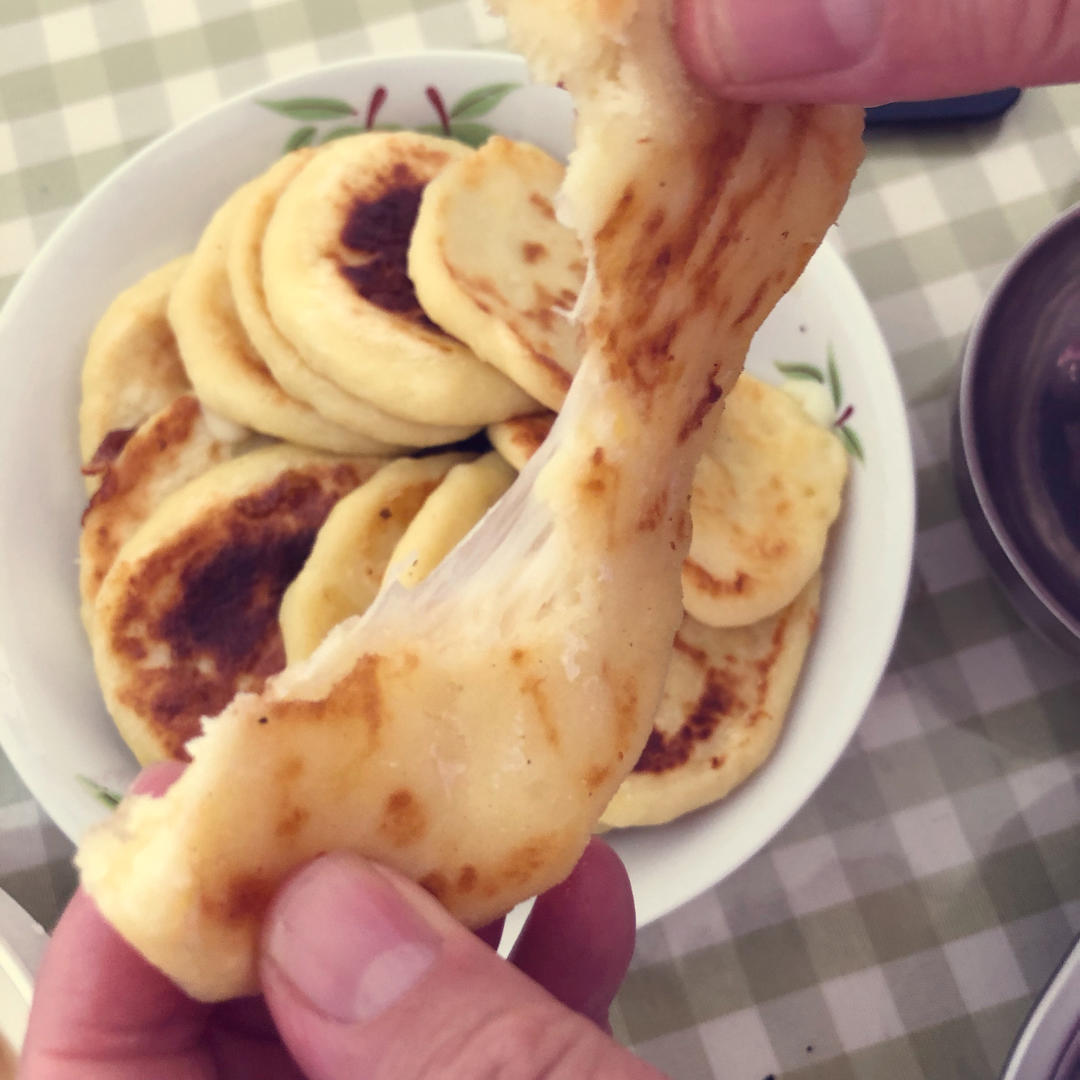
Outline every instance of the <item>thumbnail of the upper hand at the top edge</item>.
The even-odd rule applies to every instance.
[[[878,39],[883,0],[690,0],[697,48],[733,83],[852,67]]]

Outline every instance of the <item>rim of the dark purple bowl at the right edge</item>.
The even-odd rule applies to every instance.
[[[974,394],[975,380],[978,367],[978,356],[983,351],[983,340],[986,325],[991,315],[1000,307],[1002,300],[1008,295],[1014,280],[1024,270],[1028,262],[1037,256],[1040,249],[1053,240],[1059,232],[1068,230],[1080,222],[1080,203],[1067,210],[1064,214],[1054,218],[1044,229],[1038,232],[1021,248],[1020,253],[1009,262],[990,289],[989,296],[983,303],[971,332],[964,345],[963,356],[960,362],[960,390],[957,408],[960,422],[960,443],[963,448],[964,465],[971,477],[971,485],[978,502],[978,509],[983,515],[994,538],[1004,556],[1012,564],[1013,569],[1020,576],[1024,585],[1039,600],[1040,604],[1074,636],[1080,638],[1080,618],[1068,611],[1043,585],[1042,580],[1031,569],[1030,564],[1021,554],[1012,535],[1010,534],[1001,514],[994,502],[990,487],[983,470],[982,461],[978,458],[977,443],[975,440],[975,417],[974,417]]]

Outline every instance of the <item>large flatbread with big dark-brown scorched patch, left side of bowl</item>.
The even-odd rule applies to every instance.
[[[123,545],[91,626],[106,704],[143,762],[285,664],[278,609],[334,504],[382,464],[292,446],[215,465]]]

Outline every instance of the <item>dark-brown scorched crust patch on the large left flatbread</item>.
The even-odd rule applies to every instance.
[[[186,760],[203,716],[285,666],[282,594],[334,504],[369,473],[349,462],[285,472],[181,530],[129,575],[106,623],[107,648],[126,672],[113,693],[161,756]]]

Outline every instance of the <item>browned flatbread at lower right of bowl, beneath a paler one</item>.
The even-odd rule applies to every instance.
[[[671,821],[724,798],[761,767],[783,730],[820,592],[815,575],[793,604],[752,626],[683,620],[649,741],[603,827]]]

